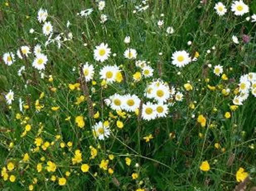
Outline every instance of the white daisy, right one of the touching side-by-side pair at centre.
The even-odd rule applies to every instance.
[[[127,94],[123,96],[123,109],[129,112],[134,112],[140,107],[140,98],[137,95]]]

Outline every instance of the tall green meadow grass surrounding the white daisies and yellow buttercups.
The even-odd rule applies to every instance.
[[[224,117],[225,112],[230,111],[230,105],[234,98],[233,91],[237,88],[239,78],[243,74],[256,72],[256,33],[255,23],[247,22],[247,16],[256,13],[255,1],[244,1],[250,13],[245,16],[235,16],[230,6],[232,1],[223,1],[228,7],[225,16],[219,17],[214,10],[217,1],[208,0],[201,4],[198,0],[165,0],[149,1],[149,9],[145,12],[134,14],[135,6],[141,1],[113,0],[106,1],[106,7],[102,11],[108,16],[105,24],[100,23],[101,12],[97,9],[95,1],[89,0],[45,0],[45,1],[10,1],[9,6],[1,2],[0,12],[0,54],[12,51],[16,53],[22,45],[33,48],[41,44],[44,53],[48,56],[45,70],[45,79],[32,67],[33,56],[19,59],[12,66],[5,65],[3,58],[0,64],[0,167],[13,161],[16,165],[14,183],[0,180],[2,190],[28,190],[33,178],[37,178],[34,190],[233,190],[238,184],[236,172],[243,167],[249,173],[251,180],[248,188],[255,186],[256,154],[255,149],[250,149],[251,144],[256,143],[256,104],[255,97],[250,93],[243,105],[231,112],[231,118]],[[96,7],[94,7],[96,6]],[[54,36],[58,33],[68,34],[72,32],[73,40],[66,41],[58,49],[56,44],[50,44],[46,48],[44,44],[47,37],[42,34],[42,24],[36,17],[40,8],[48,10],[48,21],[54,26]],[[94,8],[89,18],[81,18],[76,15],[81,10]],[[160,17],[164,14],[164,17]],[[29,18],[26,18],[29,16]],[[69,28],[66,27],[70,21]],[[164,20],[162,28],[157,26],[158,20]],[[166,27],[173,26],[174,34],[166,36]],[[33,28],[35,32],[29,33]],[[250,36],[249,43],[242,42],[242,35]],[[125,36],[131,37],[129,45],[123,43]],[[232,35],[238,36],[240,44],[232,41]],[[35,39],[37,38],[37,39]],[[187,42],[191,40],[191,46]],[[112,53],[107,61],[101,63],[93,56],[95,46],[105,42],[111,48]],[[83,44],[87,43],[87,46]],[[128,47],[135,48],[137,60],[150,61],[154,69],[153,78],[143,78],[134,82],[133,74],[140,71],[135,66],[134,60],[124,58],[123,52]],[[211,47],[216,49],[212,50]],[[196,62],[191,62],[184,68],[172,65],[172,54],[176,50],[186,50],[191,56],[197,51],[200,56]],[[206,51],[210,49],[211,53]],[[31,49],[32,51],[33,49]],[[162,55],[159,55],[162,52]],[[87,101],[75,105],[76,97],[83,95],[81,91],[70,91],[68,84],[74,84],[79,80],[79,63],[92,63],[95,68],[94,80],[97,85],[88,83],[92,101],[95,103],[94,111],[100,112],[100,118],[90,117]],[[212,68],[208,68],[208,64]],[[222,65],[228,81],[214,75],[213,67]],[[122,65],[125,81],[113,83],[107,88],[101,87],[99,71],[105,65]],[[161,65],[162,75],[160,75]],[[26,69],[22,76],[17,75],[21,66]],[[72,71],[76,68],[75,71]],[[233,70],[230,70],[232,68]],[[178,75],[178,72],[181,74]],[[48,81],[52,75],[53,82]],[[110,129],[113,134],[106,141],[94,139],[91,126],[95,122],[109,119],[109,112],[116,113],[110,107],[102,103],[114,93],[124,95],[136,94],[144,98],[143,92],[153,79],[162,79],[170,85],[174,85],[184,94],[184,99],[169,107],[169,114],[165,118],[151,121],[137,120],[137,116],[131,113],[131,117],[121,118],[124,128],[116,127],[116,119],[110,119]],[[205,82],[205,79],[209,82]],[[183,85],[190,81],[193,90],[187,92]],[[25,88],[27,84],[27,88]],[[207,85],[229,88],[231,93],[225,97],[222,88],[210,91]],[[54,93],[51,88],[57,88]],[[95,88],[95,92],[91,91]],[[15,99],[9,107],[4,95],[12,89]],[[40,100],[44,108],[35,112],[35,101],[39,99],[41,92],[45,98]],[[19,98],[29,109],[24,113],[19,111]],[[190,109],[189,104],[196,101],[195,109]],[[59,106],[60,110],[52,111],[51,107]],[[214,111],[217,108],[217,111]],[[16,114],[21,113],[22,119],[16,119]],[[192,118],[192,114],[195,118]],[[205,128],[197,122],[199,114],[207,119]],[[83,115],[86,126],[79,129],[75,124],[75,117]],[[24,117],[29,117],[27,123],[32,125],[32,130],[21,138],[25,124]],[[70,116],[70,121],[65,118]],[[44,131],[40,137],[45,141],[55,142],[46,151],[42,149],[33,153],[34,139],[40,123],[44,125]],[[214,128],[210,124],[215,124]],[[170,138],[170,133],[175,134]],[[199,133],[203,137],[199,137]],[[145,143],[143,137],[152,134],[154,138]],[[60,140],[55,136],[61,135]],[[61,149],[60,143],[72,141],[72,148]],[[13,142],[14,147],[9,149]],[[220,143],[225,152],[216,149],[214,144]],[[89,146],[97,148],[98,156],[90,158]],[[82,162],[90,165],[90,172],[83,173],[79,164],[72,164],[75,150],[82,152]],[[28,153],[28,162],[22,162],[23,155]],[[109,162],[109,167],[114,169],[110,175],[99,168],[102,159],[107,159],[108,154],[114,154],[115,158]],[[234,160],[231,161],[231,156]],[[44,156],[46,161],[40,161]],[[131,166],[125,164],[125,157],[132,159]],[[55,172],[48,172],[45,167],[47,161],[53,161],[57,165]],[[200,170],[201,162],[207,160],[210,170]],[[21,161],[21,162],[19,162]],[[37,163],[43,164],[42,172],[36,170]],[[135,164],[139,167],[135,168]],[[229,164],[227,164],[229,163]],[[58,179],[53,182],[51,176],[65,177],[65,172],[71,174],[67,178],[65,186],[58,184]],[[94,173],[97,172],[97,176]],[[132,179],[132,173],[138,172],[139,178]],[[48,179],[48,181],[46,181]]]

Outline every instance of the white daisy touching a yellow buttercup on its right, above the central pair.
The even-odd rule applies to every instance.
[[[106,80],[107,83],[112,83],[115,81],[117,72],[119,72],[119,68],[117,66],[105,66],[100,71],[100,79]]]

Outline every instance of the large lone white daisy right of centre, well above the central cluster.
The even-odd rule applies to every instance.
[[[185,50],[174,52],[172,59],[172,64],[179,68],[188,65],[191,61],[189,54]]]

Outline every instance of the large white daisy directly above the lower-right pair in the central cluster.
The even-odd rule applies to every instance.
[[[158,102],[165,102],[170,97],[169,87],[164,84],[159,84],[153,89],[153,98]]]

